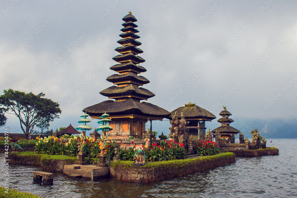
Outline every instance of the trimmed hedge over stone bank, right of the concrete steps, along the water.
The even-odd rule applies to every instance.
[[[195,159],[150,162],[142,167],[133,166],[133,161],[118,160],[112,162],[110,166],[113,169],[111,170],[112,174],[117,180],[148,183],[233,163],[235,162],[235,157],[234,153],[220,153]],[[141,181],[131,177],[133,174],[141,175]]]

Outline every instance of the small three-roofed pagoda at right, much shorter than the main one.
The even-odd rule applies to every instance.
[[[219,113],[219,115],[221,115],[222,118],[218,119],[218,122],[222,123],[222,126],[212,130],[211,132],[214,134],[218,132],[225,142],[235,143],[234,135],[238,134],[240,131],[230,126],[230,123],[234,122],[234,120],[229,118],[229,116],[232,114],[226,110],[226,106],[223,106],[223,108],[224,110],[222,110],[221,113]]]

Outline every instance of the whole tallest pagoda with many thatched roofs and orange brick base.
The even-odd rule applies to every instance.
[[[85,108],[92,119],[99,119],[103,113],[108,113],[112,121],[110,126],[113,128],[108,132],[109,137],[112,138],[128,138],[142,137],[145,132],[145,123],[152,120],[162,120],[170,113],[158,107],[154,104],[147,102],[140,102],[141,100],[147,100],[155,96],[151,91],[142,88],[144,84],[149,83],[149,80],[139,74],[146,72],[140,63],[145,60],[140,56],[137,56],[143,51],[137,46],[141,45],[136,39],[140,38],[135,33],[139,31],[135,29],[138,27],[134,22],[136,18],[129,12],[122,19],[125,23],[122,24],[124,28],[121,29],[123,34],[118,41],[121,47],[117,47],[115,50],[120,54],[113,57],[113,60],[118,64],[110,67],[111,70],[116,71],[119,74],[114,74],[108,77],[106,80],[113,83],[111,86],[100,92],[101,95],[107,96],[108,99],[99,104]]]

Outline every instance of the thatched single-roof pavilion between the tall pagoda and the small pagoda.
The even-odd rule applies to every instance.
[[[195,104],[189,102],[185,104],[184,107],[178,107],[177,109],[170,112],[168,119],[172,119],[177,112],[179,116],[178,119],[181,118],[181,113],[184,114],[186,121],[189,122],[187,128],[189,129],[189,136],[192,135],[193,139],[203,140],[205,135],[205,121],[212,121],[216,118],[216,116],[210,113],[208,110],[205,110],[201,107],[198,107]]]

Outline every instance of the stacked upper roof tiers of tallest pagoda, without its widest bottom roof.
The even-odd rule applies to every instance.
[[[145,88],[139,88],[139,86],[149,83],[149,80],[143,76],[138,76],[141,72],[146,72],[146,69],[138,65],[145,60],[137,56],[139,53],[143,53],[142,50],[137,48],[137,46],[141,45],[141,42],[135,40],[140,38],[135,34],[138,32],[135,29],[138,26],[133,23],[137,20],[130,12],[123,20],[125,23],[122,24],[124,28],[121,31],[124,33],[120,34],[120,37],[123,39],[118,41],[122,47],[115,49],[120,54],[113,57],[113,60],[119,64],[110,67],[111,70],[119,74],[111,75],[106,79],[118,86],[111,86],[101,91],[100,94],[111,99],[116,99],[116,102],[127,99],[134,99],[136,101],[147,100],[155,96],[155,94]]]

